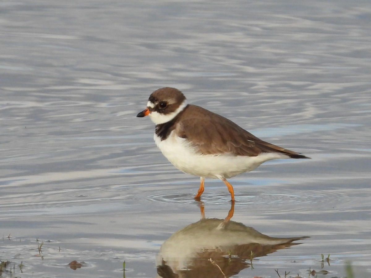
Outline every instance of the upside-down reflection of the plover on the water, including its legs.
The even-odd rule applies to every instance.
[[[159,277],[224,277],[221,271],[230,277],[250,267],[253,258],[300,244],[293,241],[308,238],[274,238],[231,221],[234,202],[224,219],[205,218],[202,202],[200,209],[200,221],[175,232],[161,245],[156,258]],[[211,264],[210,258],[221,271]]]

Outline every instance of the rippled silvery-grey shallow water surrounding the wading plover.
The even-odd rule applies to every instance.
[[[216,269],[209,255],[233,277],[344,277],[347,262],[370,276],[368,1],[36,0],[2,2],[0,14],[3,277],[122,277],[124,261],[126,277],[194,277],[199,266],[205,277]],[[186,254],[191,236],[157,267],[161,245],[203,206],[219,221],[231,209],[217,180],[194,201],[199,179],[170,165],[153,124],[135,118],[163,86],[312,157],[229,179],[231,223],[310,238],[267,255],[244,242],[251,267],[230,245],[231,258],[210,251],[221,243],[201,229],[199,252]]]

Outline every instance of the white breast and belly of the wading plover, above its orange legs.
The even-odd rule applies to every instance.
[[[231,154],[202,155],[183,139],[170,133],[166,140],[155,134],[156,145],[162,154],[180,171],[204,178],[231,178],[249,172],[271,159],[289,158],[280,153],[262,153],[258,156],[234,156]]]

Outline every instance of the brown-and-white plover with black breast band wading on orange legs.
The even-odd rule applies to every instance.
[[[187,104],[175,88],[155,90],[137,117],[147,115],[156,124],[154,140],[162,154],[180,171],[200,177],[197,201],[204,192],[205,178],[221,179],[234,201],[227,178],[271,159],[309,158],[267,143],[223,116]]]

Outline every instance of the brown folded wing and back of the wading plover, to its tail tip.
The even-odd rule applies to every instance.
[[[231,120],[195,105],[188,105],[184,117],[175,127],[182,138],[193,142],[202,154],[231,153],[257,156],[262,152],[278,152],[292,158],[306,158],[297,152],[265,142]]]

